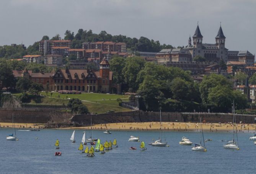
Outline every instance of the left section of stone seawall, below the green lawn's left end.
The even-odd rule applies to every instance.
[[[54,109],[0,108],[0,122],[12,122],[12,114],[15,123],[61,123],[72,117],[70,112]]]

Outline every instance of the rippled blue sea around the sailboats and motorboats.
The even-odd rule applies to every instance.
[[[205,132],[207,152],[192,151],[192,146],[179,145],[186,136],[193,143],[199,143],[199,132],[165,132],[169,147],[148,145],[160,133],[155,131],[93,131],[93,138],[117,139],[118,148],[95,152],[94,157],[80,153],[78,147],[84,130],[75,131],[76,143],[70,142],[73,130],[16,131],[18,141],[7,141],[11,129],[0,129],[0,173],[1,174],[253,174],[256,172],[256,145],[249,137],[253,133],[239,133],[240,150],[223,148],[221,140],[232,140],[232,133]],[[86,130],[87,137],[90,131]],[[144,141],[147,150],[140,150],[140,142],[128,141],[130,135]],[[38,138],[38,139],[36,139]],[[55,140],[59,139],[62,156],[54,156]],[[130,150],[130,146],[137,150]]]

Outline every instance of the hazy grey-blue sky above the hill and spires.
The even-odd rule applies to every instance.
[[[0,45],[29,46],[65,31],[148,37],[186,46],[199,23],[203,43],[221,26],[229,50],[256,53],[256,0],[0,0]]]

